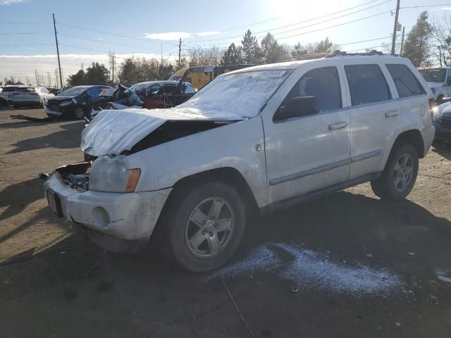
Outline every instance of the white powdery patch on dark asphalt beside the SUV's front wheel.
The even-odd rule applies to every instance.
[[[386,270],[335,263],[298,244],[286,243],[259,246],[244,260],[212,273],[206,280],[257,272],[278,275],[299,287],[320,287],[353,294],[390,292],[402,284],[400,277]]]

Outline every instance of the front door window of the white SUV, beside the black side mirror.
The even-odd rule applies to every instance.
[[[285,106],[296,96],[315,96],[320,112],[342,108],[337,68],[323,67],[309,70],[291,89],[281,106]]]

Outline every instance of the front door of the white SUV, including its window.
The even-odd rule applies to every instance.
[[[316,96],[319,113],[265,123],[269,204],[348,179],[350,111],[342,108],[343,87],[335,66],[309,70],[281,106],[296,96]]]

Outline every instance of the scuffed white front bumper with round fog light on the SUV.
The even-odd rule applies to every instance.
[[[135,193],[90,190],[84,192],[69,187],[58,172],[49,176],[44,183],[44,189],[46,197],[52,192],[58,196],[64,218],[75,223],[75,228],[79,227],[85,230],[85,234],[89,233],[85,235],[89,240],[111,251],[121,251],[117,248],[127,246],[116,245],[118,242],[147,242],[172,190],[168,188],[156,192]],[[104,239],[113,238],[118,241],[113,247],[106,247],[107,245],[99,243],[99,234],[105,235]]]

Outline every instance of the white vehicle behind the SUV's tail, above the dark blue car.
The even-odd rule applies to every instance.
[[[451,96],[451,67],[420,69],[419,72],[428,82],[437,104],[442,104],[445,97]]]

